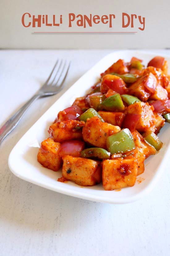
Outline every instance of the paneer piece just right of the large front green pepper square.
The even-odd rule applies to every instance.
[[[139,150],[139,155],[145,156],[147,159],[150,155],[155,155],[156,150],[151,146],[138,131],[131,132],[132,137],[134,138],[134,143],[137,149]]]

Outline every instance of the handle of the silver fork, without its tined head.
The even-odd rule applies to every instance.
[[[39,97],[39,94],[35,94],[0,128],[0,144],[5,139],[5,137],[17,126],[17,124],[19,123],[23,114],[26,112],[29,106],[31,106],[31,104]]]

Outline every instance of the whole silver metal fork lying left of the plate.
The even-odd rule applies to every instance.
[[[43,84],[43,86],[0,128],[0,144],[5,139],[5,137],[17,126],[23,114],[35,100],[40,97],[57,94],[62,89],[62,84],[66,78],[69,67],[69,61],[56,61],[53,70],[51,71],[48,79]]]

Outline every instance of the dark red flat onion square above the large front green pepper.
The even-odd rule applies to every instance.
[[[130,131],[134,131],[140,118],[141,115],[139,114],[126,114],[123,121],[123,127],[128,128]]]

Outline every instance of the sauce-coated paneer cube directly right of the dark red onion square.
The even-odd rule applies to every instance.
[[[136,102],[127,108],[128,114],[139,114],[140,119],[136,125],[136,130],[146,132],[148,130],[155,132],[155,116],[152,111],[152,106],[148,103]]]

